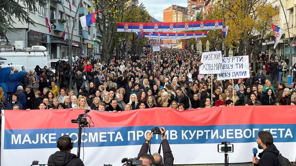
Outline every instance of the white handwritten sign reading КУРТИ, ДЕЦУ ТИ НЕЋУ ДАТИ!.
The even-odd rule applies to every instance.
[[[249,78],[249,56],[233,56],[222,58],[221,73],[218,80]]]

